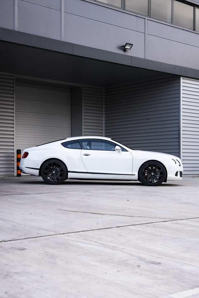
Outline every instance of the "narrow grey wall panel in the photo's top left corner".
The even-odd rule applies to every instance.
[[[0,27],[14,29],[14,0],[0,1]]]

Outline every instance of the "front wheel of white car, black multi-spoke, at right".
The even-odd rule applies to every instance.
[[[139,179],[144,185],[159,186],[166,178],[166,170],[160,162],[145,162],[139,170]]]

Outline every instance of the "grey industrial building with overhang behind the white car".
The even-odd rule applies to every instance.
[[[199,0],[0,1],[0,176],[17,149],[81,135],[199,175],[198,57]]]

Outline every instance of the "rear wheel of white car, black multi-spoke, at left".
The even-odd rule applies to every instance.
[[[67,179],[68,170],[63,162],[57,159],[47,160],[41,168],[41,177],[51,185],[61,184]]]

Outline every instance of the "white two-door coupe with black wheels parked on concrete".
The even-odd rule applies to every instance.
[[[173,155],[128,148],[113,139],[80,136],[23,151],[21,172],[48,184],[66,179],[139,180],[148,186],[181,180],[183,166]]]

